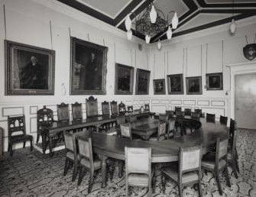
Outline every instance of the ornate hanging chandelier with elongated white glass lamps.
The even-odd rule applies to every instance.
[[[131,40],[131,37],[132,37],[132,31],[131,31],[132,23],[131,23],[130,15],[134,15],[135,17],[134,18],[135,31],[138,31],[141,34],[144,34],[146,43],[149,44],[151,37],[153,37],[154,35],[160,32],[165,31],[165,29],[169,26],[168,19],[169,19],[170,13],[174,13],[171,24],[172,24],[172,28],[176,29],[179,23],[179,19],[177,18],[177,12],[170,11],[167,15],[167,20],[166,20],[164,17],[163,11],[160,11],[159,9],[155,8],[153,1],[138,16],[136,16],[134,12],[129,13],[125,19],[125,27],[127,30],[128,40]],[[173,34],[170,26],[168,27],[166,34],[167,34],[167,39],[170,40]],[[160,40],[158,40],[157,46],[160,49]]]

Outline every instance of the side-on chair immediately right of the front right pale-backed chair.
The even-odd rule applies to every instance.
[[[219,172],[225,170],[225,179],[228,187],[231,187],[230,180],[228,176],[228,137],[224,137],[222,140],[217,138],[216,144],[216,154],[215,157],[205,156],[202,159],[202,169],[211,171],[215,174],[215,178],[217,181],[219,194],[222,195],[222,186],[219,178]]]

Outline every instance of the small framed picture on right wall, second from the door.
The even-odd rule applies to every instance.
[[[186,94],[202,95],[202,76],[186,77]]]

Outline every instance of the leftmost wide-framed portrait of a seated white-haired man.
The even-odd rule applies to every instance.
[[[5,40],[5,95],[54,95],[55,51]]]

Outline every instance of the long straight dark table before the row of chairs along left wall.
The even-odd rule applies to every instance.
[[[154,113],[151,113],[149,111],[147,112],[129,112],[125,113],[126,118],[129,117],[129,115],[137,115],[137,117],[148,117]],[[47,137],[49,139],[49,150],[50,150],[50,157],[53,156],[53,137],[63,131],[67,130],[75,130],[78,128],[86,128],[90,126],[95,126],[96,131],[99,131],[99,127],[102,124],[106,123],[112,123],[116,121],[116,117],[107,115],[107,116],[97,116],[92,118],[87,118],[83,120],[78,121],[65,121],[65,122],[58,122],[53,121],[52,124],[41,124],[41,134],[42,134],[42,146],[43,146],[43,153],[45,153],[45,150],[47,148]]]

